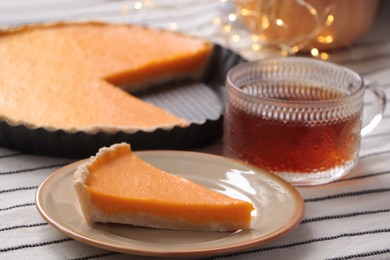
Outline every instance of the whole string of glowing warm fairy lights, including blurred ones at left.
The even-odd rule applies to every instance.
[[[302,50],[306,50],[311,56],[320,58],[323,60],[329,59],[329,54],[321,52],[314,45],[308,46],[307,43],[312,40],[317,41],[319,44],[331,44],[334,42],[334,38],[330,34],[320,34],[324,32],[322,28],[325,26],[331,26],[334,23],[334,16],[330,14],[331,9],[321,14],[317,9],[310,5],[305,0],[293,0],[296,4],[303,7],[307,12],[313,16],[315,20],[316,29],[309,35],[296,35],[290,43],[278,42],[278,39],[273,38],[272,34],[269,34],[268,30],[273,30],[272,26],[283,28],[284,32],[288,32],[289,21],[284,20],[283,17],[278,17],[277,4],[269,4],[262,6],[248,5],[248,3],[256,3],[255,0],[219,0],[220,13],[214,17],[211,17],[210,23],[215,26],[224,36],[226,44],[232,49],[237,51],[243,51],[245,53],[252,52],[255,57],[264,57],[267,53],[270,53],[271,49],[279,52],[281,56],[289,56],[299,53]],[[272,2],[272,0],[271,0]],[[237,4],[238,3],[238,4]],[[236,5],[237,4],[237,5]],[[235,6],[236,5],[236,6]],[[230,13],[226,13],[229,6],[235,6],[235,9]],[[149,9],[159,8],[161,10],[173,10],[176,8],[170,4],[156,4],[155,0],[134,0],[121,7],[121,14],[127,15],[127,17],[145,17],[146,11]],[[259,13],[257,8],[262,8],[263,13]],[[133,11],[139,16],[130,16],[130,12]],[[242,23],[244,21],[244,23]],[[243,29],[243,24],[249,26],[252,30]],[[165,28],[177,31],[179,24],[176,22],[170,22],[165,24]],[[241,27],[240,27],[241,26]],[[244,33],[243,33],[244,32]],[[266,54],[264,54],[266,53]]]

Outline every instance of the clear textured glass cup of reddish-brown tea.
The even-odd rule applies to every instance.
[[[366,91],[375,105],[363,121]],[[354,168],[361,136],[379,123],[385,105],[377,85],[330,62],[241,63],[226,80],[224,154],[297,186],[329,183]]]

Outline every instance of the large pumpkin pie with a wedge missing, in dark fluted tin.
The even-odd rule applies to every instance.
[[[99,22],[0,31],[0,119],[107,133],[186,127],[129,91],[197,77],[213,45],[175,32]]]

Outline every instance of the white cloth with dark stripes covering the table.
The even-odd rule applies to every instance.
[[[154,2],[2,0],[0,26],[97,19],[177,29],[226,44],[221,25],[215,22],[226,12],[226,1],[151,3]],[[383,2],[371,30],[357,44],[331,55],[331,61],[378,82],[388,96],[389,11],[390,2]],[[305,214],[292,232],[259,248],[208,259],[390,259],[389,109],[379,126],[362,139],[360,161],[346,179],[297,188],[304,198]],[[221,146],[222,142],[217,141],[198,151],[219,154]],[[36,190],[53,171],[70,162],[0,147],[0,258],[149,259],[85,245],[43,220],[35,207]]]

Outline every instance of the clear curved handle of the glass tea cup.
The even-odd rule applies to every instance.
[[[362,136],[371,132],[382,120],[383,114],[386,108],[386,94],[384,90],[376,82],[369,82],[366,85],[366,89],[374,94],[373,107],[370,110],[370,114],[363,119],[363,127],[360,131]]]

